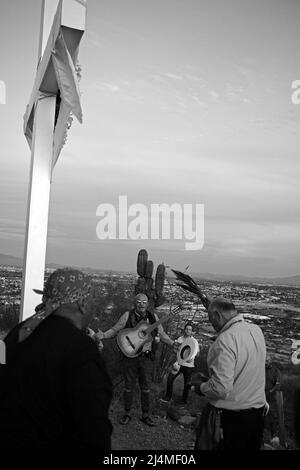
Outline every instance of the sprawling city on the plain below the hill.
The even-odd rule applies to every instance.
[[[47,268],[45,277],[47,278],[53,270]],[[112,290],[113,285],[116,289],[122,289],[125,298],[132,298],[136,274],[89,270],[89,275],[99,287],[100,295],[105,296],[108,290]],[[262,328],[268,351],[274,359],[281,364],[291,364],[292,341],[300,340],[300,294],[297,286],[197,278],[195,280],[206,294],[213,297],[222,295],[231,299],[246,321],[259,324]],[[19,313],[21,286],[21,267],[0,266],[0,317],[7,316],[11,311]],[[164,294],[166,302],[159,307],[159,316],[171,316],[174,308],[180,306],[177,315],[182,320],[181,324],[186,320],[192,321],[199,343],[209,344],[215,332],[200,300],[180,289],[171,276],[166,278]],[[113,301],[110,302],[112,303]],[[109,315],[109,308],[106,312]],[[4,331],[0,332],[0,338],[4,334]]]

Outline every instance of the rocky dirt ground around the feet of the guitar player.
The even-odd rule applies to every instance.
[[[177,383],[176,383],[177,382]],[[182,380],[178,377],[174,384],[174,396],[170,403],[159,400],[164,393],[164,384],[152,386],[152,409],[155,427],[141,422],[139,395],[136,394],[132,419],[126,426],[119,424],[123,414],[122,388],[119,387],[110,411],[114,427],[112,434],[113,450],[193,450],[195,444],[195,428],[201,411],[206,403],[204,398],[191,393],[188,404],[179,404]],[[288,436],[289,449],[295,448],[293,440]],[[264,435],[263,450],[282,450],[279,438],[271,440],[268,431]]]

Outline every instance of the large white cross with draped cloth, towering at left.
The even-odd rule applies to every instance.
[[[43,289],[51,178],[70,113],[82,122],[75,64],[85,21],[85,0],[42,1],[38,67],[24,116],[31,167],[20,320],[40,302],[32,289]]]

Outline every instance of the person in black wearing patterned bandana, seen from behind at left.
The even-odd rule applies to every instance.
[[[85,332],[93,289],[82,272],[51,274],[36,313],[5,338],[0,450],[110,450],[111,380]]]

